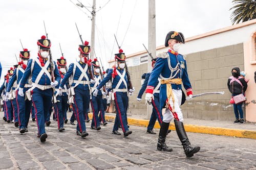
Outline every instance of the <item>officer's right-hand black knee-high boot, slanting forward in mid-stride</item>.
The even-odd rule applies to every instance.
[[[174,119],[174,123],[175,123],[176,132],[180,138],[181,144],[183,145],[183,149],[186,154],[186,157],[189,158],[193,156],[195,153],[197,153],[200,150],[200,147],[191,147],[182,122]]]

